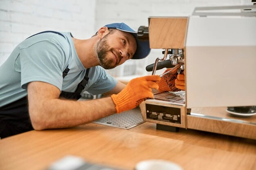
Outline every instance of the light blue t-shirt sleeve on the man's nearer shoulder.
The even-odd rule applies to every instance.
[[[40,81],[56,86],[61,91],[63,68],[68,46],[60,46],[45,40],[20,50],[21,87],[27,89],[29,82]]]

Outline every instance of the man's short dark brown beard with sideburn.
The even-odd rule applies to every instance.
[[[119,62],[121,61],[121,55],[117,53],[113,48],[110,48],[108,42],[107,42],[108,35],[105,35],[103,38],[101,38],[96,44],[96,53],[99,58],[99,64],[105,68],[105,69],[112,69],[115,68]],[[109,51],[115,51],[117,53],[119,62],[117,62],[116,65],[112,66],[111,63],[114,62],[113,59],[108,59],[108,52]]]

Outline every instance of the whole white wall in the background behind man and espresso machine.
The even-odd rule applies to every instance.
[[[194,7],[248,4],[251,0],[0,0],[0,65],[19,42],[40,31],[70,31],[86,39],[112,22],[137,31],[148,26],[149,16],[188,16]],[[146,59],[128,64],[136,64],[139,75],[151,74],[145,66],[162,57],[161,51],[153,49]]]

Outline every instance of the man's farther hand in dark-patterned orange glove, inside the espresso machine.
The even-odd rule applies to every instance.
[[[164,73],[173,68],[168,68]],[[163,75],[161,80],[157,82],[159,86],[159,91],[180,91],[185,90],[185,76],[184,74],[178,74],[178,68],[175,68],[173,71],[168,72]]]

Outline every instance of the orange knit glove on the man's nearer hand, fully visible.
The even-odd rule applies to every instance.
[[[111,95],[117,113],[139,106],[147,98],[153,98],[151,88],[158,89],[159,75],[147,75],[130,80],[126,87],[117,95]]]

